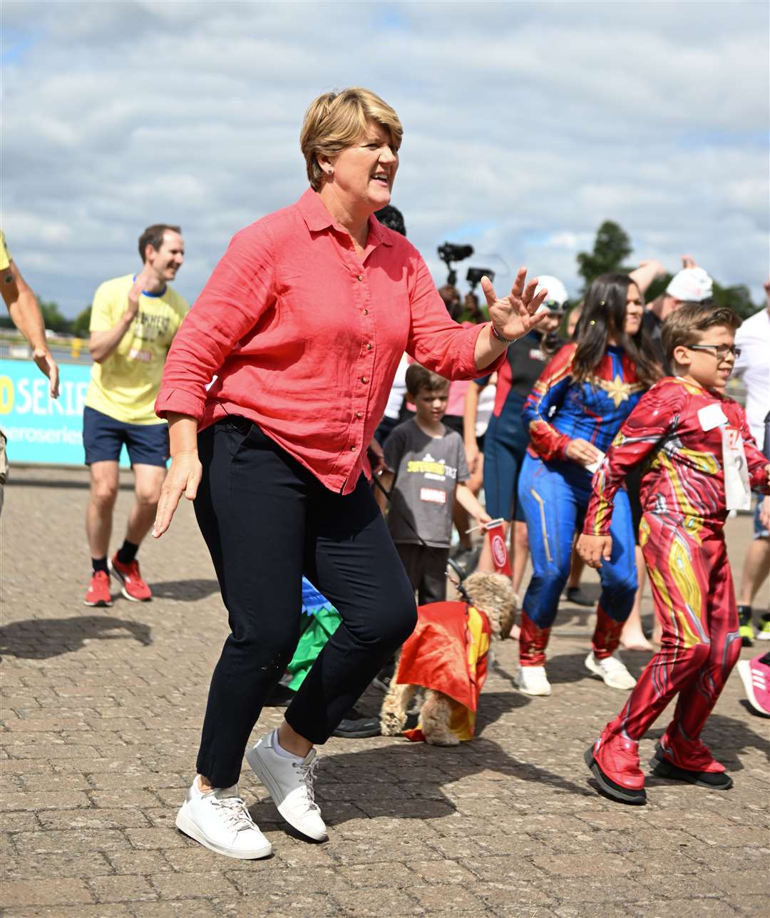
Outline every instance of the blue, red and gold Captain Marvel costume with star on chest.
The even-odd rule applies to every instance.
[[[521,666],[543,666],[559,597],[569,577],[575,532],[591,497],[591,473],[567,457],[573,440],[602,453],[631,414],[646,386],[622,347],[608,345],[584,382],[573,375],[575,343],[566,344],[532,388],[522,416],[530,448],[519,476],[519,502],[527,521],[533,573],[524,597],[519,639]],[[615,500],[612,556],[602,565],[601,596],[592,649],[597,660],[618,649],[623,622],[637,588],[634,532],[627,493]]]

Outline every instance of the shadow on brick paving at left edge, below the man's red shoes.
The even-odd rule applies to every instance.
[[[118,630],[128,634],[115,633]],[[0,628],[0,655],[26,660],[47,660],[51,656],[80,650],[86,641],[126,640],[152,644],[150,626],[140,621],[114,619],[106,615],[76,615],[71,619],[26,619]]]

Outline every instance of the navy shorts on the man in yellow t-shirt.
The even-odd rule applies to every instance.
[[[127,424],[87,406],[83,409],[85,465],[117,462],[123,444],[131,465],[162,465],[169,457],[168,424]]]

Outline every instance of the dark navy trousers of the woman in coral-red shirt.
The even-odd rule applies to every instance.
[[[217,571],[230,634],[211,679],[198,773],[238,782],[249,735],[299,638],[302,575],[341,624],[285,713],[325,743],[417,623],[414,593],[365,478],[345,497],[230,416],[202,431],[195,516]]]

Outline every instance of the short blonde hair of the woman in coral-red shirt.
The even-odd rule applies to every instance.
[[[299,146],[314,191],[320,191],[324,179],[318,156],[337,156],[352,146],[366,131],[369,121],[385,128],[394,146],[401,146],[404,129],[395,109],[371,90],[351,86],[340,93],[323,93],[313,100],[302,122]]]

